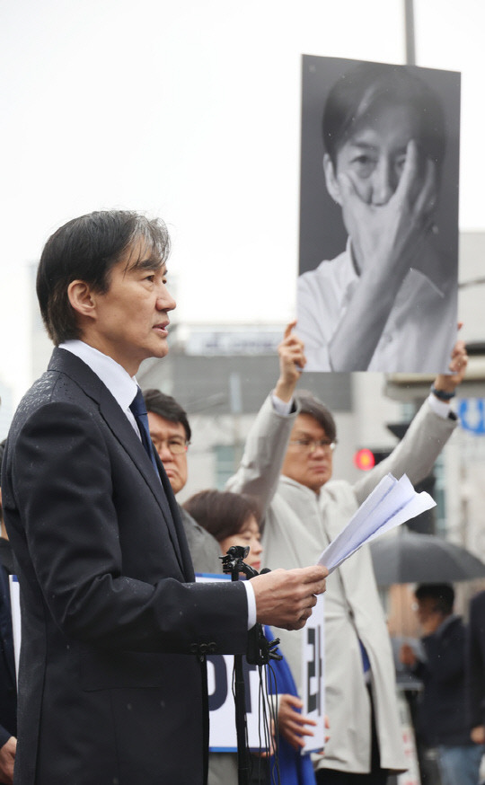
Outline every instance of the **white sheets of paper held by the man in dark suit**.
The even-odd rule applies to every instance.
[[[401,480],[386,474],[350,518],[348,525],[325,548],[318,564],[327,567],[330,575],[366,542],[435,506],[436,502],[426,491],[417,493],[414,490],[406,474]]]

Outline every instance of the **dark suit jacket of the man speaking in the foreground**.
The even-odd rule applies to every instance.
[[[20,785],[205,779],[202,655],[245,649],[247,600],[242,584],[188,585],[161,472],[99,377],[55,349],[3,462],[22,595]]]

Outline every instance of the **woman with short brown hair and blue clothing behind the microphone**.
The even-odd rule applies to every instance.
[[[183,507],[216,538],[223,554],[233,545],[249,546],[250,551],[244,561],[260,572],[263,551],[260,509],[253,498],[229,491],[202,490],[184,502]],[[265,635],[269,640],[275,637],[268,627]],[[303,703],[286,660],[272,661],[271,667],[276,675],[278,691],[278,771],[281,785],[315,785],[310,755],[301,754],[304,736],[313,736],[312,726],[315,723],[301,714]],[[269,686],[271,682],[269,680]],[[259,767],[255,765],[254,768]]]

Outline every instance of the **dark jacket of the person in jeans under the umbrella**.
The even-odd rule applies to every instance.
[[[421,638],[427,661],[414,672],[423,682],[417,732],[425,746],[471,745],[465,710],[465,626],[450,616]]]

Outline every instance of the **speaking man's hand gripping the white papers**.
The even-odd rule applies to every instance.
[[[326,567],[275,569],[251,578],[260,624],[301,630],[312,615],[316,595],[325,591]]]

